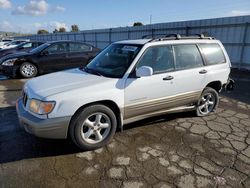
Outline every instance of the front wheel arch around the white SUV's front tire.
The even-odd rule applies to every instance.
[[[114,113],[115,113],[115,116],[117,118],[117,129],[122,129],[122,116],[121,116],[121,110],[120,108],[118,107],[118,105],[112,101],[112,100],[101,100],[101,101],[95,101],[95,102],[91,102],[91,103],[87,103],[87,104],[84,104],[83,106],[81,106],[80,108],[78,108],[76,110],[76,112],[74,113],[74,115],[71,117],[70,119],[70,123],[69,123],[69,126],[71,125],[73,119],[79,115],[79,113],[86,107],[88,106],[92,106],[92,105],[104,105],[104,106],[107,106],[109,107]],[[70,131],[70,128],[68,128],[68,133],[67,133],[67,137],[70,135],[69,134],[69,131]]]

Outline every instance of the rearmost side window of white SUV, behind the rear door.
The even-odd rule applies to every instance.
[[[199,44],[208,65],[225,63],[224,53],[218,44]]]

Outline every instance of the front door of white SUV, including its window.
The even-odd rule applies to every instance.
[[[153,75],[128,78],[125,85],[125,119],[164,110],[174,103],[174,58],[170,45],[148,48],[136,65],[149,66]],[[168,100],[169,99],[169,100]]]

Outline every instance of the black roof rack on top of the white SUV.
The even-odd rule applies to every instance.
[[[149,42],[164,41],[164,40],[185,40],[185,39],[208,39],[214,40],[214,37],[205,37],[203,34],[181,35],[181,34],[168,34],[164,37],[152,38]]]

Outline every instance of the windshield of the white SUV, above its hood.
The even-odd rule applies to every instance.
[[[85,71],[105,77],[122,78],[141,48],[142,45],[111,44],[86,66]]]

